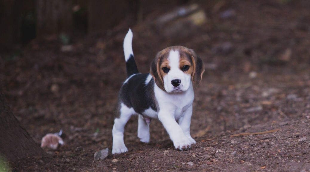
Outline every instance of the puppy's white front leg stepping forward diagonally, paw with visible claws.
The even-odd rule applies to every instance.
[[[159,112],[158,119],[162,122],[162,125],[166,128],[170,139],[175,146],[175,149],[181,151],[187,150],[191,147],[191,142],[184,135],[182,128],[175,121],[173,114],[167,114],[166,112]]]

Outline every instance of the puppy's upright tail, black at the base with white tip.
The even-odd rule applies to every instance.
[[[134,53],[132,51],[132,37],[133,35],[131,29],[129,29],[124,39],[124,54],[126,60],[127,77],[139,73],[137,65],[135,63]]]

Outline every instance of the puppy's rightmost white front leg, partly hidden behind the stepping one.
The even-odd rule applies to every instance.
[[[186,135],[187,139],[191,142],[191,144],[195,144],[196,141],[192,138],[190,134],[190,125],[191,125],[191,117],[193,114],[193,105],[187,108],[181,117],[178,120],[180,127],[182,128],[184,134]]]

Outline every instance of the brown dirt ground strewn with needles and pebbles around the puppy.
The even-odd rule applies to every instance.
[[[13,114],[38,146],[60,129],[65,142],[48,151],[52,157],[10,164],[12,171],[310,171],[310,3],[197,4],[206,21],[186,29],[154,26],[171,11],[157,5],[143,23],[129,16],[106,35],[76,36],[69,51],[57,39],[34,40],[2,55],[1,88]],[[141,143],[133,117],[125,129],[129,152],[94,161],[96,151],[112,148],[129,27],[142,73],[167,46],[192,48],[205,62],[191,122],[197,143],[176,151],[158,120],[151,122],[150,143]],[[171,28],[176,35],[167,34]]]

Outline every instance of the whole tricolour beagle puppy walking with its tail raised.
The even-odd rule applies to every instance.
[[[202,60],[192,49],[170,46],[157,53],[150,73],[139,73],[132,51],[133,34],[124,39],[127,79],[119,92],[112,130],[112,153],[127,152],[124,127],[138,115],[138,137],[150,141],[151,119],[158,118],[167,130],[175,149],[184,151],[195,144],[190,135],[194,89],[205,71]]]

